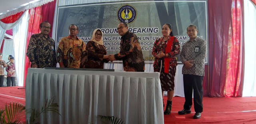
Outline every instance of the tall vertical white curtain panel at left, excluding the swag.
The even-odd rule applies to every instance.
[[[14,57],[15,68],[18,86],[23,86],[24,82],[24,66],[25,66],[25,49],[26,49],[26,36],[28,30],[28,10],[24,13],[24,16],[20,22],[12,29],[13,41],[14,41]]]

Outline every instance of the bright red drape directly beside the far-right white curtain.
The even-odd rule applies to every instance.
[[[226,96],[242,96],[244,81],[244,16],[243,0],[234,0],[232,6],[232,27],[230,31],[228,75]]]

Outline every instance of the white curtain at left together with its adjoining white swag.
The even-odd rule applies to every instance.
[[[14,57],[15,57],[15,69],[18,86],[23,86],[24,81],[24,58],[25,58],[25,45],[26,35],[28,30],[28,10],[22,14],[22,16],[14,23],[5,24],[0,21],[0,47],[2,45],[2,39],[6,30],[13,29],[13,41],[14,41]]]

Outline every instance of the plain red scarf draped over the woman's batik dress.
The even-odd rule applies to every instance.
[[[165,54],[170,53],[172,49],[173,40],[174,40],[174,36],[171,36],[170,39],[167,41]],[[170,61],[171,61],[171,58],[169,58],[168,56],[164,57],[164,73],[169,73]]]

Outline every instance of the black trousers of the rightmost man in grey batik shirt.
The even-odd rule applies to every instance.
[[[203,111],[203,79],[204,76],[183,75],[183,85],[185,94],[184,109],[189,110],[192,106],[192,93],[194,90],[194,109],[196,112]]]

